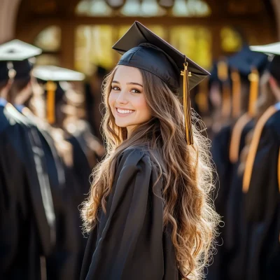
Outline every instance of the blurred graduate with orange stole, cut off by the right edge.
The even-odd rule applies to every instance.
[[[280,261],[280,43],[254,46],[269,55],[258,115],[244,151],[246,271],[244,279],[279,279]]]

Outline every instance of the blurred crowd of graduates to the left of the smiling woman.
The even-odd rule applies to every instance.
[[[105,153],[84,75],[34,67],[40,52],[0,46],[0,279],[79,279],[87,239],[78,207]],[[91,99],[100,87],[87,85]]]

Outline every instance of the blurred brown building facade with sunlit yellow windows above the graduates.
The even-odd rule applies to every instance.
[[[3,3],[2,3],[3,2]],[[5,7],[7,2],[8,6]],[[14,3],[12,3],[14,2]],[[111,69],[119,55],[111,50],[134,20],[206,69],[214,59],[240,50],[242,42],[276,41],[273,1],[263,0],[1,0],[14,17],[2,39],[18,37],[43,49],[37,64],[55,64],[91,75],[94,66]],[[275,1],[274,5],[278,5]],[[261,34],[261,36],[260,36]],[[6,37],[6,38],[5,38]]]

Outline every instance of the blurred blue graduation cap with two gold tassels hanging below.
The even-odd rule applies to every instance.
[[[245,45],[235,55],[228,57],[228,66],[232,78],[232,116],[237,118],[241,112],[241,80],[250,83],[248,113],[255,116],[259,76],[267,66],[267,56],[253,52]]]

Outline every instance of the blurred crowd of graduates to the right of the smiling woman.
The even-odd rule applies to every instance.
[[[221,235],[207,279],[280,279],[280,43],[214,63],[202,118],[216,167]]]

